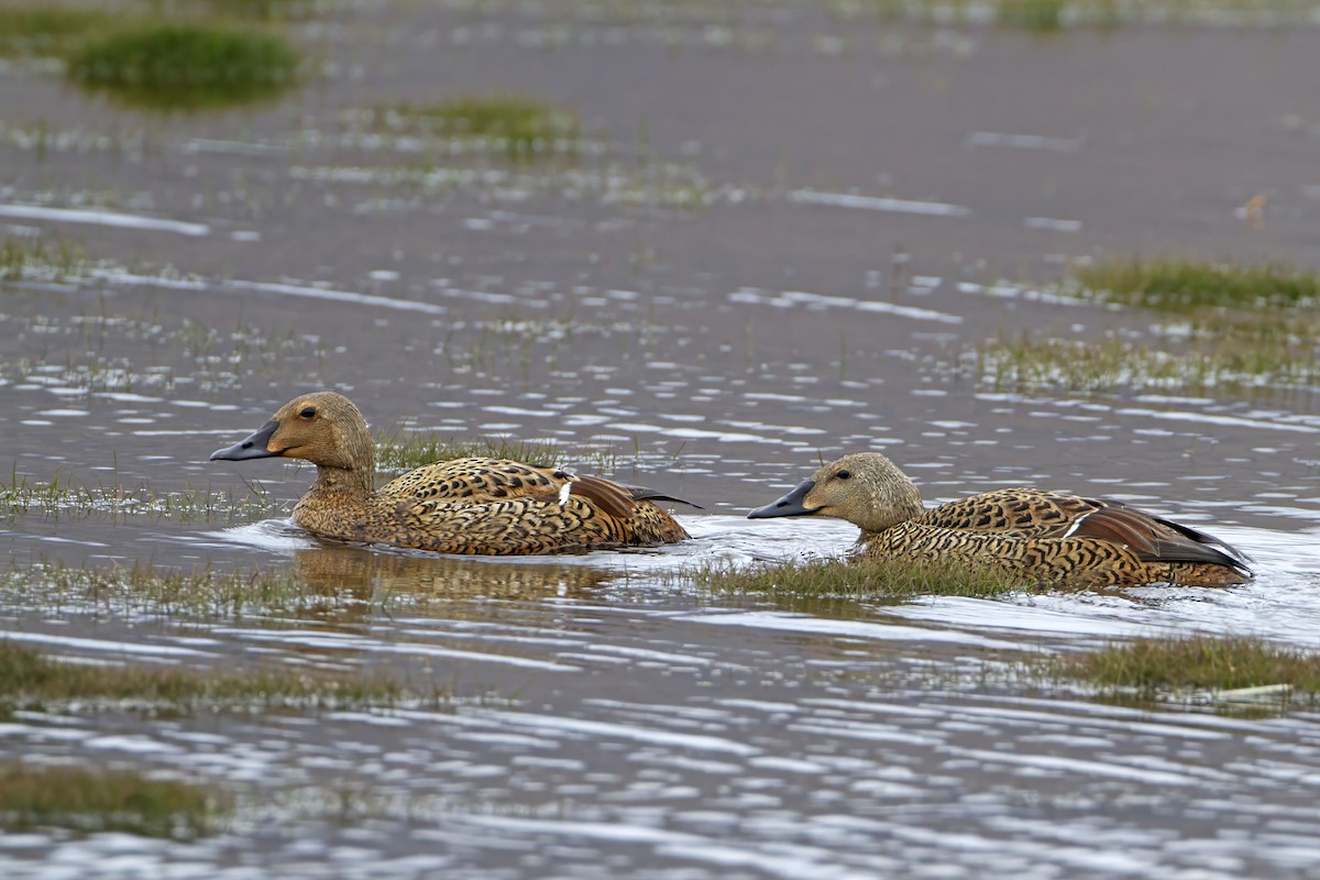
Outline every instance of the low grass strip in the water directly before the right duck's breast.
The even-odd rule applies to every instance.
[[[915,596],[1001,596],[1028,584],[990,569],[958,565],[915,565],[869,557],[801,559],[774,566],[704,567],[692,573],[697,586],[711,592],[763,595],[774,599],[837,598],[902,600]]]

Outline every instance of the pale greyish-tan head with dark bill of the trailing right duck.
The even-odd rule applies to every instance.
[[[921,515],[921,492],[879,453],[853,453],[812,474],[796,489],[747,515],[833,516],[863,532],[883,532]]]

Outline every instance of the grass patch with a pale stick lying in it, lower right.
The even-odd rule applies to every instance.
[[[1249,636],[1139,639],[1043,662],[1056,678],[1094,683],[1109,697],[1320,703],[1320,654]]]

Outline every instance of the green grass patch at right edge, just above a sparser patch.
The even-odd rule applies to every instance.
[[[1320,276],[1276,264],[1237,265],[1180,257],[1109,260],[1074,269],[1081,296],[1159,311],[1257,309],[1320,302]]]

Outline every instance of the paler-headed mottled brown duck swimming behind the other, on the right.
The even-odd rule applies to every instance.
[[[1221,587],[1251,579],[1247,557],[1224,541],[1114,500],[1019,487],[925,509],[912,479],[880,453],[830,462],[747,516],[836,517],[861,529],[857,555],[952,562],[1047,586]]]

